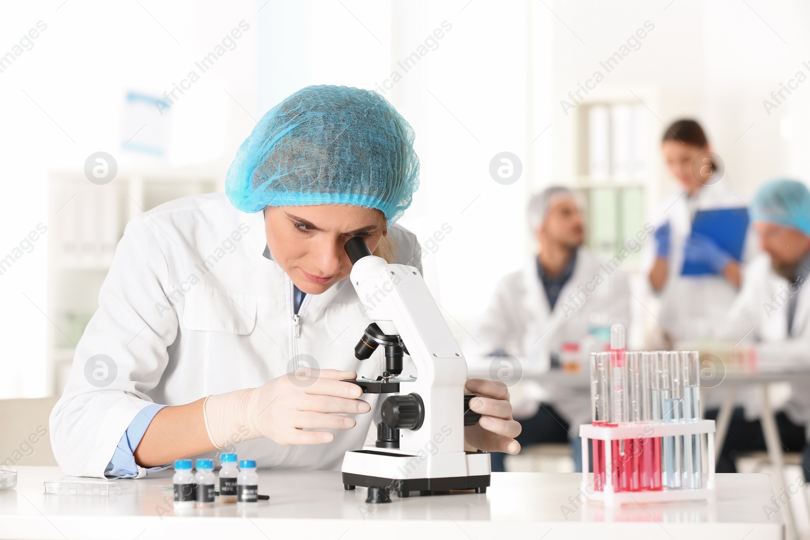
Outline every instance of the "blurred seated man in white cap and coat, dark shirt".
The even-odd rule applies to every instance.
[[[607,330],[609,339],[611,324],[629,325],[629,283],[619,266],[641,250],[653,229],[640,231],[616,257],[603,261],[582,244],[582,212],[569,189],[550,187],[533,196],[528,213],[538,252],[497,284],[478,340],[484,354],[514,355],[526,364],[524,370],[554,364],[563,344],[578,345],[586,362],[587,349],[601,347],[592,337],[589,344],[590,334]],[[550,389],[523,381],[513,390],[514,418],[522,420],[521,444],[574,442],[578,424],[590,422],[586,389]],[[579,466],[579,444],[573,444],[573,457]],[[504,470],[503,458],[502,453],[492,454],[492,470]]]

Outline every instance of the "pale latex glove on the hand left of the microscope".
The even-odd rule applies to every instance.
[[[276,377],[258,388],[209,396],[203,408],[208,437],[217,448],[267,437],[278,444],[324,444],[330,432],[305,429],[350,429],[345,415],[371,410],[360,386],[347,382],[355,372],[304,368]]]

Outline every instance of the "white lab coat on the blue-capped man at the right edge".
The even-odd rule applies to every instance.
[[[791,283],[774,272],[770,257],[761,254],[749,265],[740,295],[726,317],[722,337],[741,346],[755,347],[757,366],[764,371],[781,368],[810,368],[810,287],[799,280],[792,287],[796,299],[793,332],[787,334],[787,293]],[[773,296],[776,296],[774,300]],[[781,298],[780,298],[781,297]],[[784,410],[794,423],[810,420],[810,388],[792,385],[790,399],[787,385],[772,385],[771,405]],[[748,418],[760,415],[760,402],[745,399]]]

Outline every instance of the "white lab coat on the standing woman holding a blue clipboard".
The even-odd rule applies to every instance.
[[[744,206],[728,189],[725,181],[706,185],[693,198],[683,189],[675,189],[655,210],[657,229],[670,223],[669,273],[667,284],[660,293],[658,320],[664,329],[675,336],[681,347],[689,347],[702,339],[717,338],[717,321],[722,321],[734,302],[737,291],[723,276],[684,276],[684,245],[692,233],[692,219],[697,210],[739,208]],[[756,240],[746,235],[743,262],[756,253]],[[645,253],[645,275],[655,260],[656,242],[648,244]]]

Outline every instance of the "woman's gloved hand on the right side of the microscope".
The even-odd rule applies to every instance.
[[[466,391],[475,393],[470,400],[470,410],[480,413],[475,426],[464,428],[464,441],[475,449],[486,452],[520,452],[520,443],[514,440],[521,426],[512,419],[512,404],[509,390],[501,381],[467,379]]]

